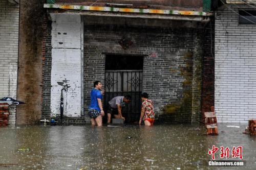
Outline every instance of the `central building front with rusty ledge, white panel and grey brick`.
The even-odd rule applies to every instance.
[[[211,13],[202,1],[184,2],[48,1],[42,118],[60,114],[62,93],[64,122],[89,122],[90,90],[99,80],[105,107],[116,95],[132,95],[124,109],[129,122],[139,119],[141,92],[150,94],[160,121],[200,120]]]

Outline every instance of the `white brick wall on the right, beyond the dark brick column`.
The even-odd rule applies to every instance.
[[[256,118],[256,25],[239,25],[231,9],[216,11],[215,110],[218,122],[248,123]]]

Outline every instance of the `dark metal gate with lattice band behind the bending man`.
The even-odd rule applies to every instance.
[[[132,96],[130,104],[122,108],[122,115],[127,123],[139,120],[141,109],[143,70],[105,70],[105,98],[104,108],[115,96]]]

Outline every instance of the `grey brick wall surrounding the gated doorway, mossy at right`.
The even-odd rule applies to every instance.
[[[129,31],[128,31],[129,30]],[[163,29],[148,27],[84,26],[84,106],[90,104],[93,81],[104,84],[105,53],[145,55],[143,66],[143,92],[154,101],[158,119],[164,122],[191,122],[192,98],[199,101],[195,114],[200,117],[201,59],[202,51],[196,41],[195,29]],[[123,35],[130,37],[133,45],[123,50],[118,41]],[[195,47],[198,47],[195,50]],[[151,55],[151,54],[156,54]],[[196,57],[198,56],[198,57]],[[197,64],[193,64],[197,63]],[[199,64],[198,64],[199,63]],[[194,70],[199,70],[193,82]],[[195,73],[196,74],[196,73]],[[197,84],[193,86],[193,83]],[[199,86],[198,86],[199,85]],[[195,103],[194,103],[195,104]],[[194,117],[197,119],[197,116]]]

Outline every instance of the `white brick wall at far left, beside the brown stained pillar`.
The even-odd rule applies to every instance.
[[[0,99],[16,99],[18,62],[18,6],[0,0]],[[15,125],[16,106],[10,107],[9,124]]]

